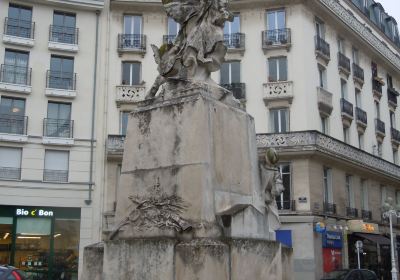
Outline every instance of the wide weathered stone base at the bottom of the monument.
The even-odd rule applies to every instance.
[[[292,250],[255,239],[131,239],[85,248],[83,280],[289,280]],[[103,265],[104,263],[104,265]]]

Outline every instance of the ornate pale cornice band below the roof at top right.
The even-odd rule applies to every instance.
[[[390,64],[400,71],[400,57],[390,50],[378,37],[376,37],[362,22],[354,17],[338,0],[318,0],[333,14],[341,19],[347,26],[356,32],[362,39],[374,47]]]

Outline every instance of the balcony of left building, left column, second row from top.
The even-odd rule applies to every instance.
[[[29,94],[32,92],[31,76],[31,68],[2,64],[0,90]]]

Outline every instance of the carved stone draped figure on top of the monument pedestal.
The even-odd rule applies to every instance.
[[[146,98],[154,97],[167,79],[211,82],[211,72],[224,62],[223,27],[232,21],[227,0],[162,0],[167,15],[181,25],[173,44],[151,45],[159,76]]]

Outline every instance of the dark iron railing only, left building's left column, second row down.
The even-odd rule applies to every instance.
[[[15,85],[31,85],[32,68],[2,64],[0,82]]]

